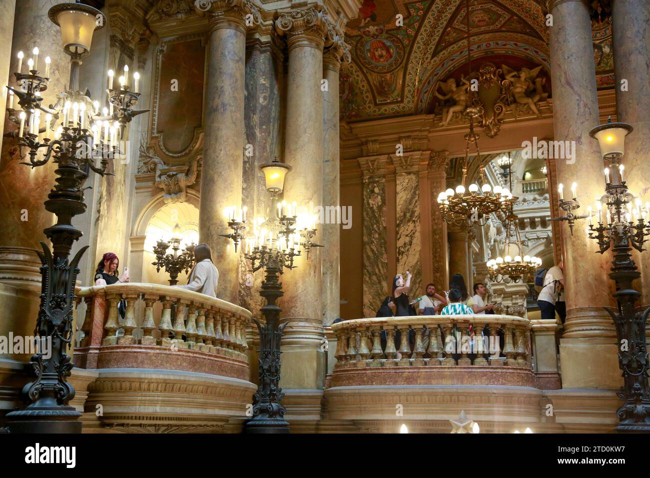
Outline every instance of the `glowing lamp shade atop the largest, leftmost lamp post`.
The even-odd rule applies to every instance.
[[[47,15],[61,27],[64,50],[81,55],[90,52],[92,34],[106,23],[104,14],[97,8],[81,3],[60,3],[50,8]]]

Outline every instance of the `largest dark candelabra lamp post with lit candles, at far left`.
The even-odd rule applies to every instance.
[[[60,26],[64,51],[70,55],[69,89],[59,94],[56,105],[42,105],[40,92],[49,83],[49,57],[45,59],[45,74],[40,75],[38,48],[32,51],[34,59],[27,62],[29,71],[23,73],[19,68],[14,73],[16,86],[8,86],[8,116],[19,124],[17,133],[8,136],[18,139],[19,148],[27,148],[29,162],[23,164],[34,168],[50,159],[57,163],[56,184],[45,201],[45,209],[56,215],[57,223],[44,230],[53,250],[41,242],[43,252],[38,252],[42,293],[34,330],[41,339],[51,338],[51,355],[45,357],[39,352],[32,356],[29,365],[36,378],[23,387],[25,405],[6,414],[10,432],[18,433],[81,432],[81,414],[68,405],[75,389],[66,381],[72,371],[71,357],[66,352],[72,342],[77,266],[88,246],[69,261],[72,245],[82,235],[72,225],[72,219],[86,210],[81,185],[88,177],[88,169],[101,176],[110,174],[109,159],[120,154],[117,135],[122,137],[126,124],[148,111],[131,110],[140,94],[129,91],[125,81],[120,90],[110,86],[107,90],[111,110],[116,109],[110,115],[100,115],[99,103],[79,90],[81,59],[90,53],[94,30],[105,23],[99,10],[80,3],[62,3],[50,8],[48,16]],[[12,96],[18,98],[22,109],[19,114],[12,108]],[[40,127],[42,119],[44,127]]]

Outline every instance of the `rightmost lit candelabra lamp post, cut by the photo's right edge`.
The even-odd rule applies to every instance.
[[[645,340],[645,322],[650,308],[643,313],[636,312],[635,303],[641,294],[634,289],[632,281],[641,274],[630,254],[632,247],[639,252],[645,250],[645,236],[650,235],[650,224],[647,222],[650,204],[646,203],[643,207],[637,198],[636,207],[632,207],[634,196],[623,180],[623,146],[625,136],[631,131],[632,126],[629,124],[608,122],[590,132],[591,137],[599,140],[601,153],[609,167],[605,169],[605,194],[596,204],[597,226],[592,224],[589,215],[589,237],[597,241],[598,252],[604,254],[612,248],[614,256],[609,276],[617,285],[614,297],[618,308],[606,310],[616,325],[619,367],[623,371],[624,380],[621,391],[617,393],[624,403],[616,412],[619,418],[616,430],[650,431],[648,353]]]

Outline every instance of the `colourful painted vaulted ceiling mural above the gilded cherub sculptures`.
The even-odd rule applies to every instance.
[[[454,100],[444,97],[483,70],[499,83],[523,71],[526,95],[549,96],[549,34],[539,0],[470,0],[471,64],[467,23],[465,0],[363,0],[346,25],[352,62],[341,70],[341,118],[446,113]],[[599,88],[611,86],[607,21],[595,23],[594,55]],[[506,90],[500,94],[504,100]]]

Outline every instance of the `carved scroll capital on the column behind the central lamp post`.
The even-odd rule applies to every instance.
[[[291,50],[297,46],[311,46],[323,49],[326,42],[331,44],[330,24],[320,5],[300,10],[276,12],[276,31],[287,36]]]

